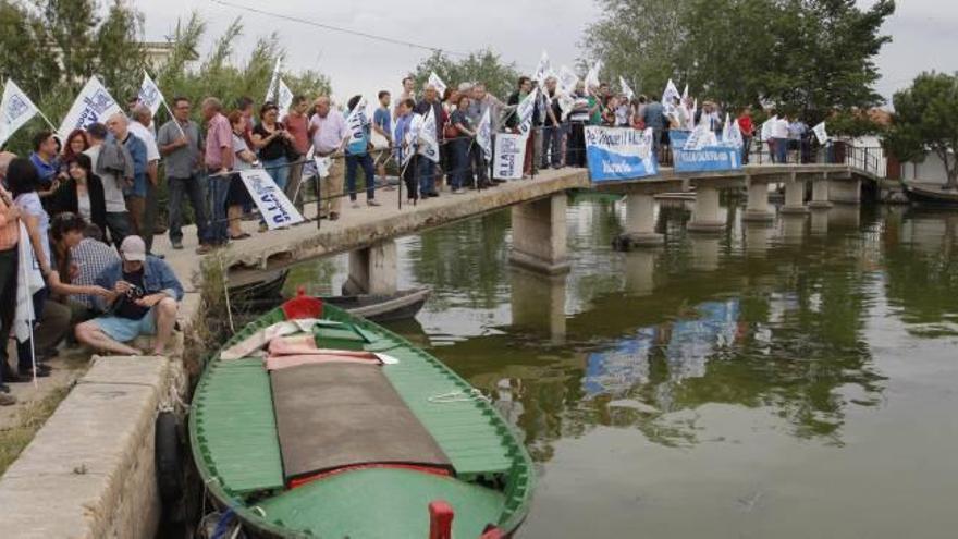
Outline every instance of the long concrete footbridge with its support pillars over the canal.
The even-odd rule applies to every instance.
[[[531,180],[514,181],[495,188],[463,195],[444,194],[398,207],[398,191],[380,189],[378,208],[346,208],[339,221],[302,224],[283,231],[254,233],[226,250],[231,284],[260,279],[266,272],[283,269],[310,258],[349,253],[351,293],[390,293],[396,286],[396,247],[393,240],[487,212],[512,208],[513,243],[511,259],[518,266],[541,273],[567,271],[566,192],[594,189],[627,197],[624,243],[628,246],[658,245],[654,195],[693,189],[695,204],[689,231],[720,232],[720,192],[748,188],[748,221],[771,222],[769,184],[784,184],[783,213],[805,213],[833,204],[859,204],[862,181],[870,176],[848,164],[749,166],[740,170],[679,174],[662,169],[656,176],[625,182],[592,184],[585,169],[549,170]],[[811,184],[811,197],[807,187]],[[360,194],[360,201],[363,195]],[[347,204],[347,203],[346,203]],[[307,208],[307,215],[315,215]],[[187,234],[189,237],[189,234]],[[164,243],[164,242],[157,242]],[[162,248],[161,248],[162,250]],[[195,272],[197,264],[184,252],[168,252],[168,260],[181,277]]]

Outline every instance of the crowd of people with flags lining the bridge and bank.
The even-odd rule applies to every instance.
[[[531,118],[520,125],[519,106],[532,95]],[[247,97],[228,108],[208,97],[196,117],[195,103],[174,97],[172,118],[159,126],[150,108],[134,97],[126,113],[62,140],[50,131],[36,133],[27,158],[0,155],[0,331],[9,334],[14,326],[21,222],[45,283],[33,295],[33,342],[17,343],[16,372],[0,347],[0,404],[10,400],[4,381],[49,373],[45,360],[67,335],[101,352],[136,354],[127,343],[156,334],[155,352],[162,351],[183,293],[162,255],[152,253],[163,182],[171,248],[184,248],[188,205],[196,253],[202,255],[250,236],[242,220],[256,213],[255,205],[240,173],[253,168],[263,169],[300,211],[311,195],[317,219],[335,221],[345,197],[353,208],[361,207],[359,191],[365,191],[366,206],[379,206],[377,191],[395,188],[388,170],[414,203],[440,196],[442,186],[451,194],[495,187],[502,181],[493,177],[479,144],[487,114],[492,136],[530,134],[524,177],[548,168],[586,167],[588,125],[651,128],[660,162],[670,159],[670,130],[705,125],[720,133],[724,126],[711,101],[698,108],[676,95],[663,103],[655,96],[615,94],[607,84],[587,87],[582,81],[561,88],[555,76],[523,76],[504,100],[482,82],[463,82],[440,94],[434,84],[417,89],[413,77],[402,81],[396,99],[389,90],[377,98],[371,121],[357,132],[349,119],[365,107],[361,96],[341,109],[329,96],[310,100],[298,95],[287,110]],[[435,120],[438,162],[421,151],[416,133],[428,115]],[[786,162],[789,151],[798,155],[796,160],[807,159],[810,130],[800,120],[776,115],[759,127],[745,108],[734,121],[745,139],[744,162],[760,130],[767,131],[762,139],[773,160]],[[260,232],[267,229],[260,218]]]

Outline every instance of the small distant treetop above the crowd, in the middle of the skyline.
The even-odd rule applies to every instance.
[[[519,78],[515,63],[504,63],[499,54],[488,49],[470,52],[468,57],[458,61],[441,51],[433,52],[416,65],[412,74],[416,87],[422,88],[426,79],[429,78],[429,73],[433,71],[451,88],[455,88],[460,83],[481,82],[486,84],[486,89],[490,94],[500,99],[505,99],[515,89],[516,81]],[[396,83],[398,86],[400,81]]]

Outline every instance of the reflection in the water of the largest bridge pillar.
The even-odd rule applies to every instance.
[[[512,314],[516,328],[548,333],[552,344],[565,343],[566,274],[543,275],[513,268]]]

